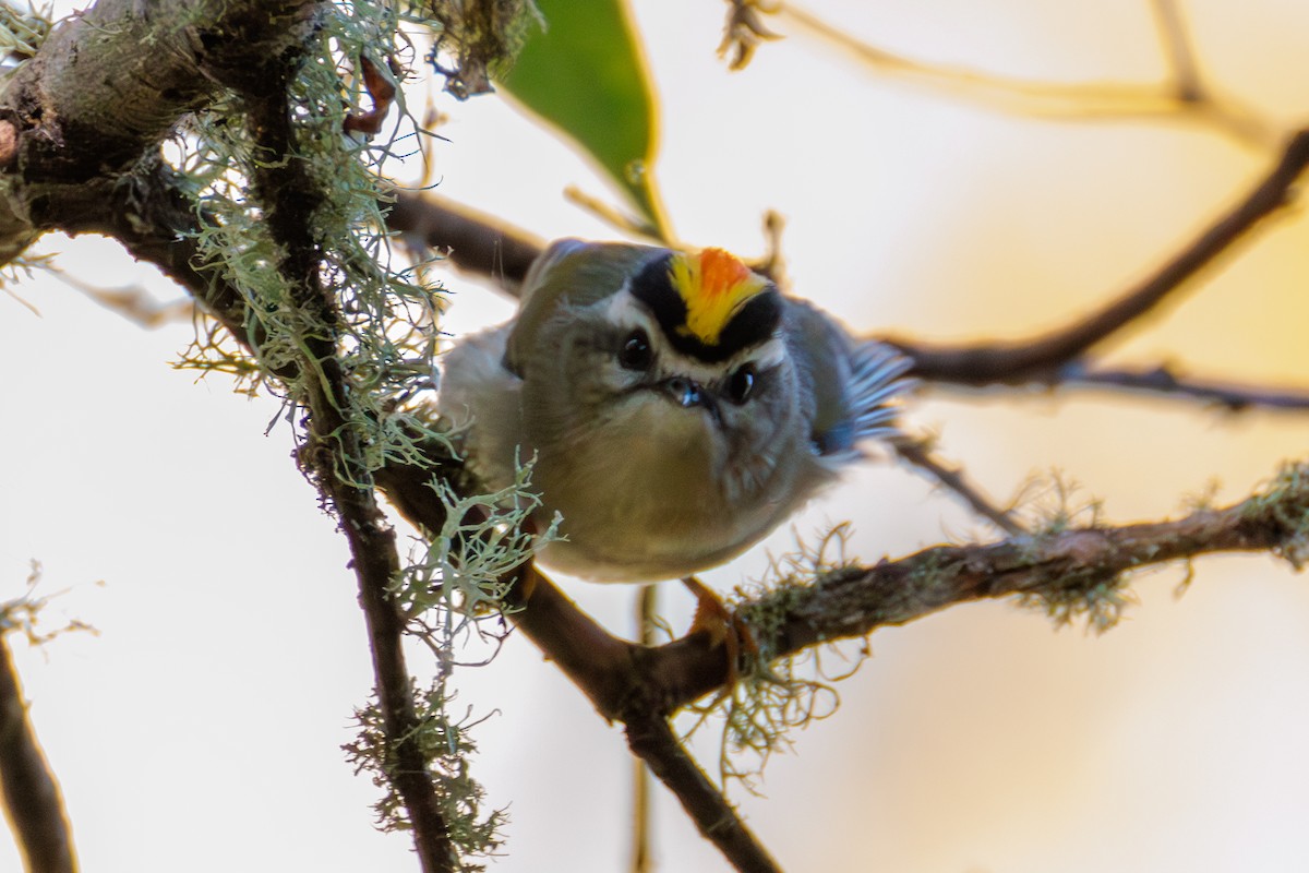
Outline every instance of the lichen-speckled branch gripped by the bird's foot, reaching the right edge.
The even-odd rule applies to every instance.
[[[428,501],[389,490],[423,522]],[[1267,551],[1300,568],[1309,561],[1309,465],[1291,465],[1254,496],[1177,521],[1021,535],[991,544],[937,546],[874,567],[843,567],[781,580],[737,605],[764,661],[791,657],[878,627],[906,624],[957,603],[1018,596],[1059,622],[1085,616],[1103,628],[1124,597],[1123,575],[1206,554]],[[664,715],[728,682],[723,649],[707,635],[645,648],[619,640],[577,610],[535,569],[512,598],[528,633],[609,719],[635,713],[632,700]]]

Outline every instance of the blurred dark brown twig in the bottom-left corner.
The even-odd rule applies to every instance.
[[[27,873],[76,873],[64,798],[27,719],[27,704],[4,633],[0,633],[0,794]]]

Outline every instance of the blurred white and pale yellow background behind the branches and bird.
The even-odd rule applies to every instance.
[[[1182,5],[1208,81],[1280,130],[1304,120],[1309,4]],[[924,62],[1033,80],[1164,75],[1144,1],[805,8]],[[1272,161],[1195,122],[1007,114],[804,35],[728,73],[713,55],[721,16],[707,0],[635,4],[664,99],[673,223],[750,257],[763,211],[780,211],[796,292],[860,330],[945,340],[1063,323],[1143,276]],[[605,192],[563,145],[493,97],[439,107],[441,194],[547,238],[614,236],[562,199],[567,185]],[[106,287],[152,275],[102,240],[46,247]],[[1113,359],[1306,385],[1306,262],[1297,209]],[[509,313],[466,276],[446,284],[450,330]],[[0,294],[0,598],[38,559],[39,593],[63,592],[50,622],[99,630],[17,647],[84,869],[415,870],[407,836],[373,830],[376,792],[339,750],[370,687],[367,640],[344,542],[296,472],[291,432],[264,435],[276,406],[173,369],[187,325],[143,330],[48,277],[16,292],[41,314]],[[1071,391],[929,390],[908,420],[939,431],[942,453],[1000,499],[1058,469],[1111,521],[1175,514],[1212,479],[1220,501],[1238,499],[1302,458],[1309,435],[1305,415]],[[808,535],[843,518],[868,561],[990,537],[893,465],[856,471],[795,524]],[[707,579],[730,589],[789,542],[779,531]],[[733,796],[793,873],[1306,869],[1306,580],[1268,556],[1204,559],[1177,599],[1182,576],[1134,580],[1139,603],[1101,637],[1007,602],[880,631],[839,686],[839,713],[771,762],[766,797]],[[565,585],[630,630],[634,589]],[[669,586],[665,601],[685,627],[685,597]],[[626,870],[620,730],[521,637],[458,687],[475,713],[495,712],[475,734],[488,802],[512,819],[492,869]],[[660,870],[726,869],[662,793],[654,828]],[[0,870],[17,869],[0,838]]]

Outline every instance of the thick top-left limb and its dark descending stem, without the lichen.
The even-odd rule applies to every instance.
[[[0,251],[12,257],[45,229],[109,233],[188,288],[238,340],[258,344],[262,329],[247,319],[238,291],[217,271],[200,270],[198,204],[158,147],[185,113],[232,89],[247,97],[260,145],[270,154],[295,154],[285,77],[302,56],[319,5],[158,0],[147,8],[101,0],[58,26],[0,96],[0,165],[8,170]],[[178,27],[178,21],[187,24]],[[152,50],[143,52],[141,45]],[[394,743],[391,777],[424,869],[450,870],[454,852],[414,730],[402,622],[387,594],[399,568],[394,531],[360,469],[364,452],[343,414],[350,401],[335,357],[336,313],[319,283],[322,251],[312,226],[321,194],[302,161],[263,165],[253,182],[296,304],[312,323],[326,326],[300,338],[304,360],[279,374],[314,373],[302,380],[310,441],[301,462],[317,474],[351,546]]]

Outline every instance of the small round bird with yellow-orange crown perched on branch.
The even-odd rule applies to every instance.
[[[567,538],[542,563],[651,581],[741,554],[893,433],[908,366],[720,249],[562,240],[445,356],[439,408],[488,490],[535,457]]]

